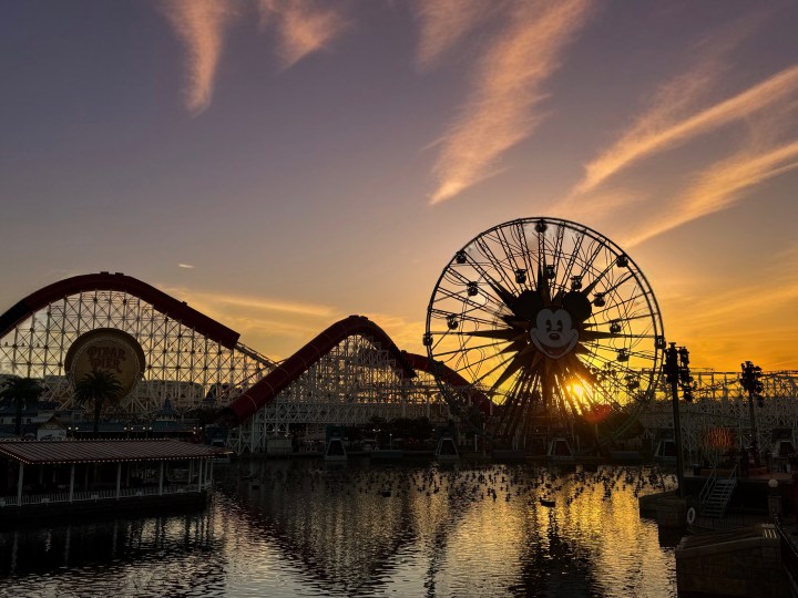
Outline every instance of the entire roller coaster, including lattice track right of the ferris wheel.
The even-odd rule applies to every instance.
[[[158,289],[122,274],[76,276],[49,285],[0,316],[0,375],[42,382],[42,400],[75,408],[64,368],[69,347],[83,333],[113,328],[133,336],[145,353],[142,380],[119,406],[126,416],[156,419],[166,404],[176,417],[214,411],[231,426],[236,452],[264,451],[269,437],[291,430],[364,425],[374,417],[453,414],[436,378],[452,389],[466,381],[426,355],[400,350],[362,316],[328,327],[299,351],[275,362],[239,342],[239,334]],[[682,403],[685,446],[698,451],[719,427],[750,440],[747,396],[738,374],[697,371],[696,399]],[[759,446],[776,431],[798,430],[798,374],[767,372],[764,406],[756,409]],[[474,398],[485,405],[485,396]],[[673,429],[672,404],[661,382],[640,413],[644,434]],[[784,436],[784,434],[782,434]]]

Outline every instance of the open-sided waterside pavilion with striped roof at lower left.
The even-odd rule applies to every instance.
[[[205,501],[223,450],[171,440],[0,443],[0,524]]]

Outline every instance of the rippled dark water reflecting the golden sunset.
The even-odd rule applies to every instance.
[[[676,596],[652,467],[217,466],[204,512],[0,533],[2,596]],[[539,502],[543,495],[555,506]]]

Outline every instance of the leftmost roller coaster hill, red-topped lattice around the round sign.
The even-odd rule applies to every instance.
[[[146,367],[120,412],[153,420],[216,410],[275,363],[238,342],[238,332],[123,274],[75,276],[49,285],[0,316],[0,373],[42,381],[43,401],[75,406],[66,353],[85,332],[117,329],[141,346]]]

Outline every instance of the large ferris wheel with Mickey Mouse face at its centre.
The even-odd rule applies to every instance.
[[[648,282],[617,245],[576,223],[524,218],[454,254],[423,343],[447,367],[437,379],[452,410],[494,440],[587,423],[603,441],[653,394],[663,334]]]

